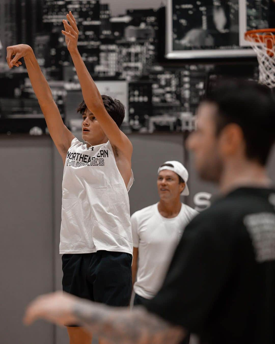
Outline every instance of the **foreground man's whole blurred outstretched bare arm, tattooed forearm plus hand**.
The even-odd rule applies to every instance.
[[[39,318],[60,325],[81,324],[117,344],[176,344],[185,336],[182,327],[173,326],[141,306],[130,311],[62,292],[40,296],[28,307],[24,322],[30,324]]]

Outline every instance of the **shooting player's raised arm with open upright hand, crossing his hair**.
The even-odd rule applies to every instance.
[[[67,14],[67,19],[70,21],[70,25],[64,20],[63,24],[65,31],[62,30],[62,33],[66,37],[67,47],[75,65],[85,104],[92,114],[95,115],[112,146],[116,146],[126,155],[126,157],[131,157],[133,149],[130,140],[118,128],[115,121],[106,111],[99,90],[78,52],[78,29],[72,12]]]

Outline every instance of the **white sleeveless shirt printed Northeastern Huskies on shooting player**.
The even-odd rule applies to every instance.
[[[128,191],[110,142],[72,140],[62,182],[60,254],[98,250],[133,254]]]

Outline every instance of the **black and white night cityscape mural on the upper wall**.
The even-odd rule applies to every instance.
[[[266,8],[266,11],[270,11],[268,0],[262,1],[263,7],[259,7],[261,0],[256,1],[257,10]],[[81,89],[61,33],[62,20],[69,10],[73,12],[80,31],[78,50],[101,94],[118,98],[125,105],[122,130],[126,133],[190,131],[194,129],[195,109],[209,82],[211,85],[217,77],[232,73],[257,79],[256,58],[240,65],[238,61],[234,61],[233,65],[222,65],[211,60],[203,63],[200,60],[191,63],[164,63],[159,52],[164,51],[162,48],[165,44],[163,9],[166,2],[109,2],[1,0],[1,133],[39,135],[47,132],[24,63],[10,70],[5,60],[6,47],[19,43],[29,44],[33,48],[66,125],[72,130],[81,126],[81,118],[76,113],[76,107],[82,100]],[[196,3],[197,7],[198,2],[203,3],[188,1],[189,9],[183,8],[180,12],[182,15],[178,16],[181,24],[183,20],[188,22],[188,11],[192,10],[192,2]],[[210,2],[217,3],[214,0]],[[186,4],[186,1],[182,3]],[[251,7],[253,0],[247,3]],[[237,2],[234,4],[232,7],[230,1],[227,1],[227,8],[235,9]],[[180,1],[177,0],[177,6],[179,5]],[[219,12],[221,10],[216,11],[217,16],[222,17]],[[253,8],[248,7],[248,11],[254,13]],[[191,12],[190,21],[193,21],[195,14]],[[237,20],[231,12],[225,13],[227,20]],[[268,14],[264,13],[261,18],[267,20],[267,17]],[[175,24],[180,37],[179,44],[183,44],[187,34],[187,31],[179,32],[181,24]],[[195,28],[194,23],[189,26],[190,30]],[[234,37],[230,39],[234,40]]]

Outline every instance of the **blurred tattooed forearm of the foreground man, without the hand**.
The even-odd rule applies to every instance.
[[[142,307],[130,312],[85,301],[73,308],[76,319],[92,333],[119,344],[176,344],[185,336],[180,326],[173,326]]]

